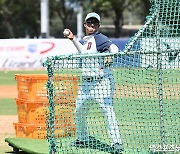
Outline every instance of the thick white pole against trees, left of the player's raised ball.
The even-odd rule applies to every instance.
[[[41,37],[49,37],[49,0],[41,0]]]

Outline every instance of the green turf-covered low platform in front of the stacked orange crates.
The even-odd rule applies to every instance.
[[[31,154],[48,154],[48,142],[43,139],[6,138],[12,147]]]

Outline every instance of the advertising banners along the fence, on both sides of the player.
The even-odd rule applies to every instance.
[[[113,39],[122,51],[129,38]],[[120,56],[115,61],[116,67],[157,67],[157,44],[155,38],[143,38],[139,49],[149,54]],[[162,55],[163,68],[178,68],[180,65],[179,38],[162,38],[159,47],[166,51]],[[138,49],[138,50],[139,50]],[[47,57],[78,53],[74,44],[68,39],[0,39],[0,70],[41,69]],[[68,66],[70,67],[70,66]]]

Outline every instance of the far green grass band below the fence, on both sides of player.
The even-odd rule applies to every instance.
[[[79,69],[62,69],[55,72],[57,74],[81,75]],[[0,71],[0,85],[16,85],[15,74],[47,74],[46,70],[17,70],[17,71]],[[163,70],[162,77],[165,84],[180,83],[180,71]],[[144,68],[118,68],[114,69],[114,78],[118,84],[157,84],[157,69]],[[117,80],[118,79],[118,80]]]

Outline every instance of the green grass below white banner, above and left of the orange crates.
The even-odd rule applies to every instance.
[[[0,71],[0,85],[16,85],[15,74],[46,74],[45,70]]]

